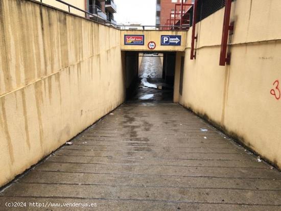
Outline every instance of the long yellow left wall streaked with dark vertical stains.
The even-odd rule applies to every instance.
[[[123,103],[122,65],[119,30],[0,1],[0,186]]]

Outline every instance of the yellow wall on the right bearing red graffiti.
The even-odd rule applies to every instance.
[[[264,3],[232,3],[230,65],[219,66],[224,8],[196,25],[196,60],[189,31],[179,102],[281,168],[281,99],[270,93],[281,83],[281,2]]]

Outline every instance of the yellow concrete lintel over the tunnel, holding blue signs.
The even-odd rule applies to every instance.
[[[144,45],[125,45],[124,35],[145,35]],[[180,46],[161,45],[161,35],[181,35]],[[186,48],[185,31],[158,31],[158,30],[122,30],[121,31],[121,50],[123,51],[184,51]],[[156,48],[149,50],[148,43],[154,41]]]

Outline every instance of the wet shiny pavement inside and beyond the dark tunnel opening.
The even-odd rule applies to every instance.
[[[127,102],[172,102],[173,85],[162,79],[159,55],[145,54],[139,67],[138,86]]]

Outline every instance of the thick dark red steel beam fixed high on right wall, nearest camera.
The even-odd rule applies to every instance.
[[[230,60],[230,58],[226,56],[228,33],[229,33],[229,30],[233,30],[233,26],[229,26],[230,12],[231,12],[231,0],[226,0],[225,10],[224,10],[223,29],[222,29],[220,66],[225,66],[225,63],[229,63],[229,60]]]

